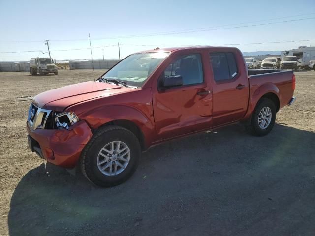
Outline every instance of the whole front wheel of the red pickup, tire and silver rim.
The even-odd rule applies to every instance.
[[[80,167],[95,185],[111,187],[131,177],[140,155],[137,137],[123,127],[110,125],[94,134],[81,154]]]

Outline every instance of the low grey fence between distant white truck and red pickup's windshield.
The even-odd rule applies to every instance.
[[[110,69],[113,67],[119,60],[94,60],[93,65],[94,69]],[[80,61],[69,61],[70,70],[77,69],[92,69],[91,60],[80,60]]]

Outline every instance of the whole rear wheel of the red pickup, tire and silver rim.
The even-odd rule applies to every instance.
[[[267,98],[260,99],[252,113],[247,130],[255,136],[268,134],[275,124],[276,114],[276,106],[273,101]]]

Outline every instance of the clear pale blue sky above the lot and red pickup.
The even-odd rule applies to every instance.
[[[164,46],[315,46],[314,0],[0,0],[0,22],[0,61],[48,57],[44,40],[56,60],[91,59],[89,34],[94,59],[118,58],[118,43],[121,58]]]

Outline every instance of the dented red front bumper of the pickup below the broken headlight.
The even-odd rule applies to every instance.
[[[81,120],[70,129],[35,129],[26,125],[29,147],[37,155],[48,162],[73,168],[80,154],[92,137],[88,124]]]

